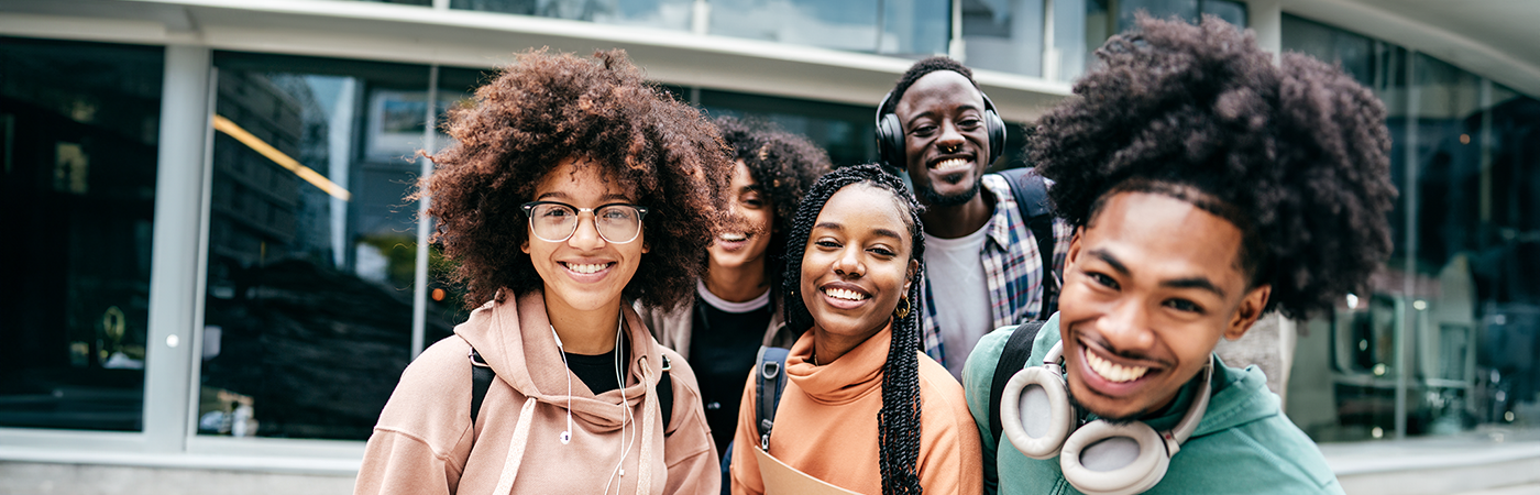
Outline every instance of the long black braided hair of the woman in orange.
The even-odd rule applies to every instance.
[[[813,327],[813,315],[807,311],[802,295],[798,295],[807,237],[829,197],[853,184],[867,184],[893,193],[893,199],[909,210],[909,237],[913,245],[909,256],[921,262],[919,270],[910,278],[907,295],[910,311],[893,322],[893,342],[887,352],[887,364],[882,365],[882,409],[878,412],[876,424],[882,493],[918,495],[921,487],[915,464],[919,460],[919,311],[915,302],[919,301],[919,287],[924,284],[926,236],[919,224],[921,207],[898,176],[875,163],[838,168],[818,179],[813,190],[802,197],[785,242],[785,274],[781,278],[787,295],[785,321],[798,332]]]

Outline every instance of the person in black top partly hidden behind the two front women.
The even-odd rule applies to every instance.
[[[658,344],[690,359],[716,453],[727,456],[744,396],[744,372],[755,367],[759,345],[796,342],[798,335],[781,316],[785,234],[802,194],[830,165],[829,154],[807,137],[770,123],[736,117],[716,117],[711,123],[722,131],[736,162],[728,185],[730,225],[705,250],[705,276],[695,285],[693,304],[638,305],[636,313]]]

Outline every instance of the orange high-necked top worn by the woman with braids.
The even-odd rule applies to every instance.
[[[859,492],[882,493],[876,415],[882,409],[882,364],[892,328],[878,332],[827,365],[813,365],[813,332],[804,332],[785,359],[788,382],[776,406],[770,455],[810,476]],[[927,495],[979,493],[983,453],[962,386],[919,353],[919,484]],[[748,375],[733,438],[733,493],[764,493],[755,427],[755,378]]]

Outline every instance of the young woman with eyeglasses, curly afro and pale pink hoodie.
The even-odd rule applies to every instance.
[[[631,310],[695,291],[716,130],[624,52],[531,51],[447,131],[417,197],[474,311],[407,367],[354,492],[718,492],[695,375]]]

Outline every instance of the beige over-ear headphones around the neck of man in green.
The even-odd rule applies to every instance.
[[[1209,407],[1214,358],[1203,367],[1203,393],[1177,427],[1155,432],[1144,423],[1090,421],[1075,427],[1078,415],[1064,382],[1064,342],[1053,344],[1043,365],[1016,372],[999,399],[999,423],[1010,444],[1033,460],[1060,456],[1064,480],[1087,495],[1140,493],[1155,487],[1170,456],[1198,429]]]

